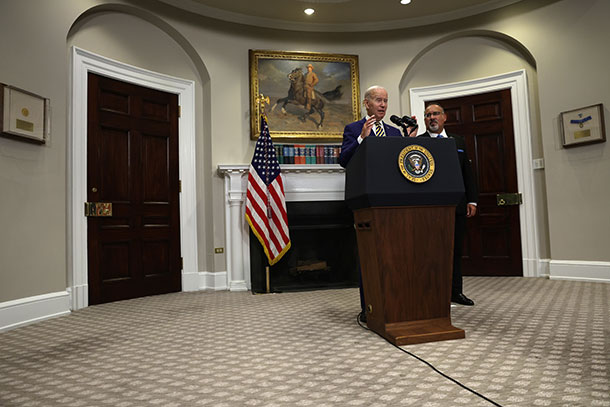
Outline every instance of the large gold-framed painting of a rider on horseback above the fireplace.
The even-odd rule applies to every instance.
[[[249,60],[252,140],[260,134],[261,95],[269,97],[273,140],[339,141],[345,125],[360,119],[357,55],[250,50]]]

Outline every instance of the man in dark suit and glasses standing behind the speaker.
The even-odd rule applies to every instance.
[[[477,213],[477,184],[472,173],[470,160],[466,153],[466,143],[460,136],[447,134],[445,131],[445,121],[447,115],[440,105],[430,105],[424,112],[426,122],[426,132],[417,137],[433,138],[453,138],[458,149],[458,160],[462,169],[464,188],[466,194],[458,204],[455,211],[455,234],[453,244],[453,277],[451,279],[451,302],[462,305],[474,305],[474,301],[466,297],[463,293],[462,283],[462,247],[464,245],[464,235],[466,233],[466,218],[470,218]]]

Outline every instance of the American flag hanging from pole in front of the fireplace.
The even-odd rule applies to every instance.
[[[264,117],[248,173],[246,220],[263,245],[269,265],[277,263],[290,249],[290,235],[284,179]]]

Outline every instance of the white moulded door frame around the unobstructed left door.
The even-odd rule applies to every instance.
[[[72,309],[89,305],[87,274],[87,74],[178,95],[180,194],[180,249],[184,260],[182,290],[199,289],[197,271],[197,196],[195,191],[195,83],[190,80],[127,65],[72,47],[70,134],[68,142],[68,290]]]

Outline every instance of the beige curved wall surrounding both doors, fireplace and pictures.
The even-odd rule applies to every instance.
[[[104,11],[106,3],[5,0],[0,6],[0,55],[11,56],[0,59],[0,81],[48,97],[52,107],[48,145],[0,138],[0,302],[66,288],[70,45],[196,81],[200,271],[225,267],[224,255],[213,254],[214,247],[224,246],[223,188],[216,166],[248,163],[254,148],[249,139],[248,49],[357,54],[361,87],[388,88],[388,114],[408,113],[405,84],[527,69],[534,158],[543,156],[546,163],[544,172],[536,175],[537,188],[548,198],[549,234],[540,236],[547,248],[543,254],[552,259],[610,261],[605,204],[610,199],[608,143],[562,149],[557,124],[559,112],[594,103],[604,103],[606,118],[610,117],[610,56],[605,51],[610,2],[528,0],[435,27],[361,34],[242,27],[152,1],[113,1],[119,6]],[[96,5],[102,8],[79,20],[68,37],[78,17]],[[459,36],[478,30],[513,38],[531,53],[535,66],[514,44]],[[449,37],[456,38],[420,55]],[[406,73],[418,55],[421,59]],[[450,66],[428,69],[429,62],[446,56],[451,57]],[[537,207],[542,219],[547,217],[542,201]]]

